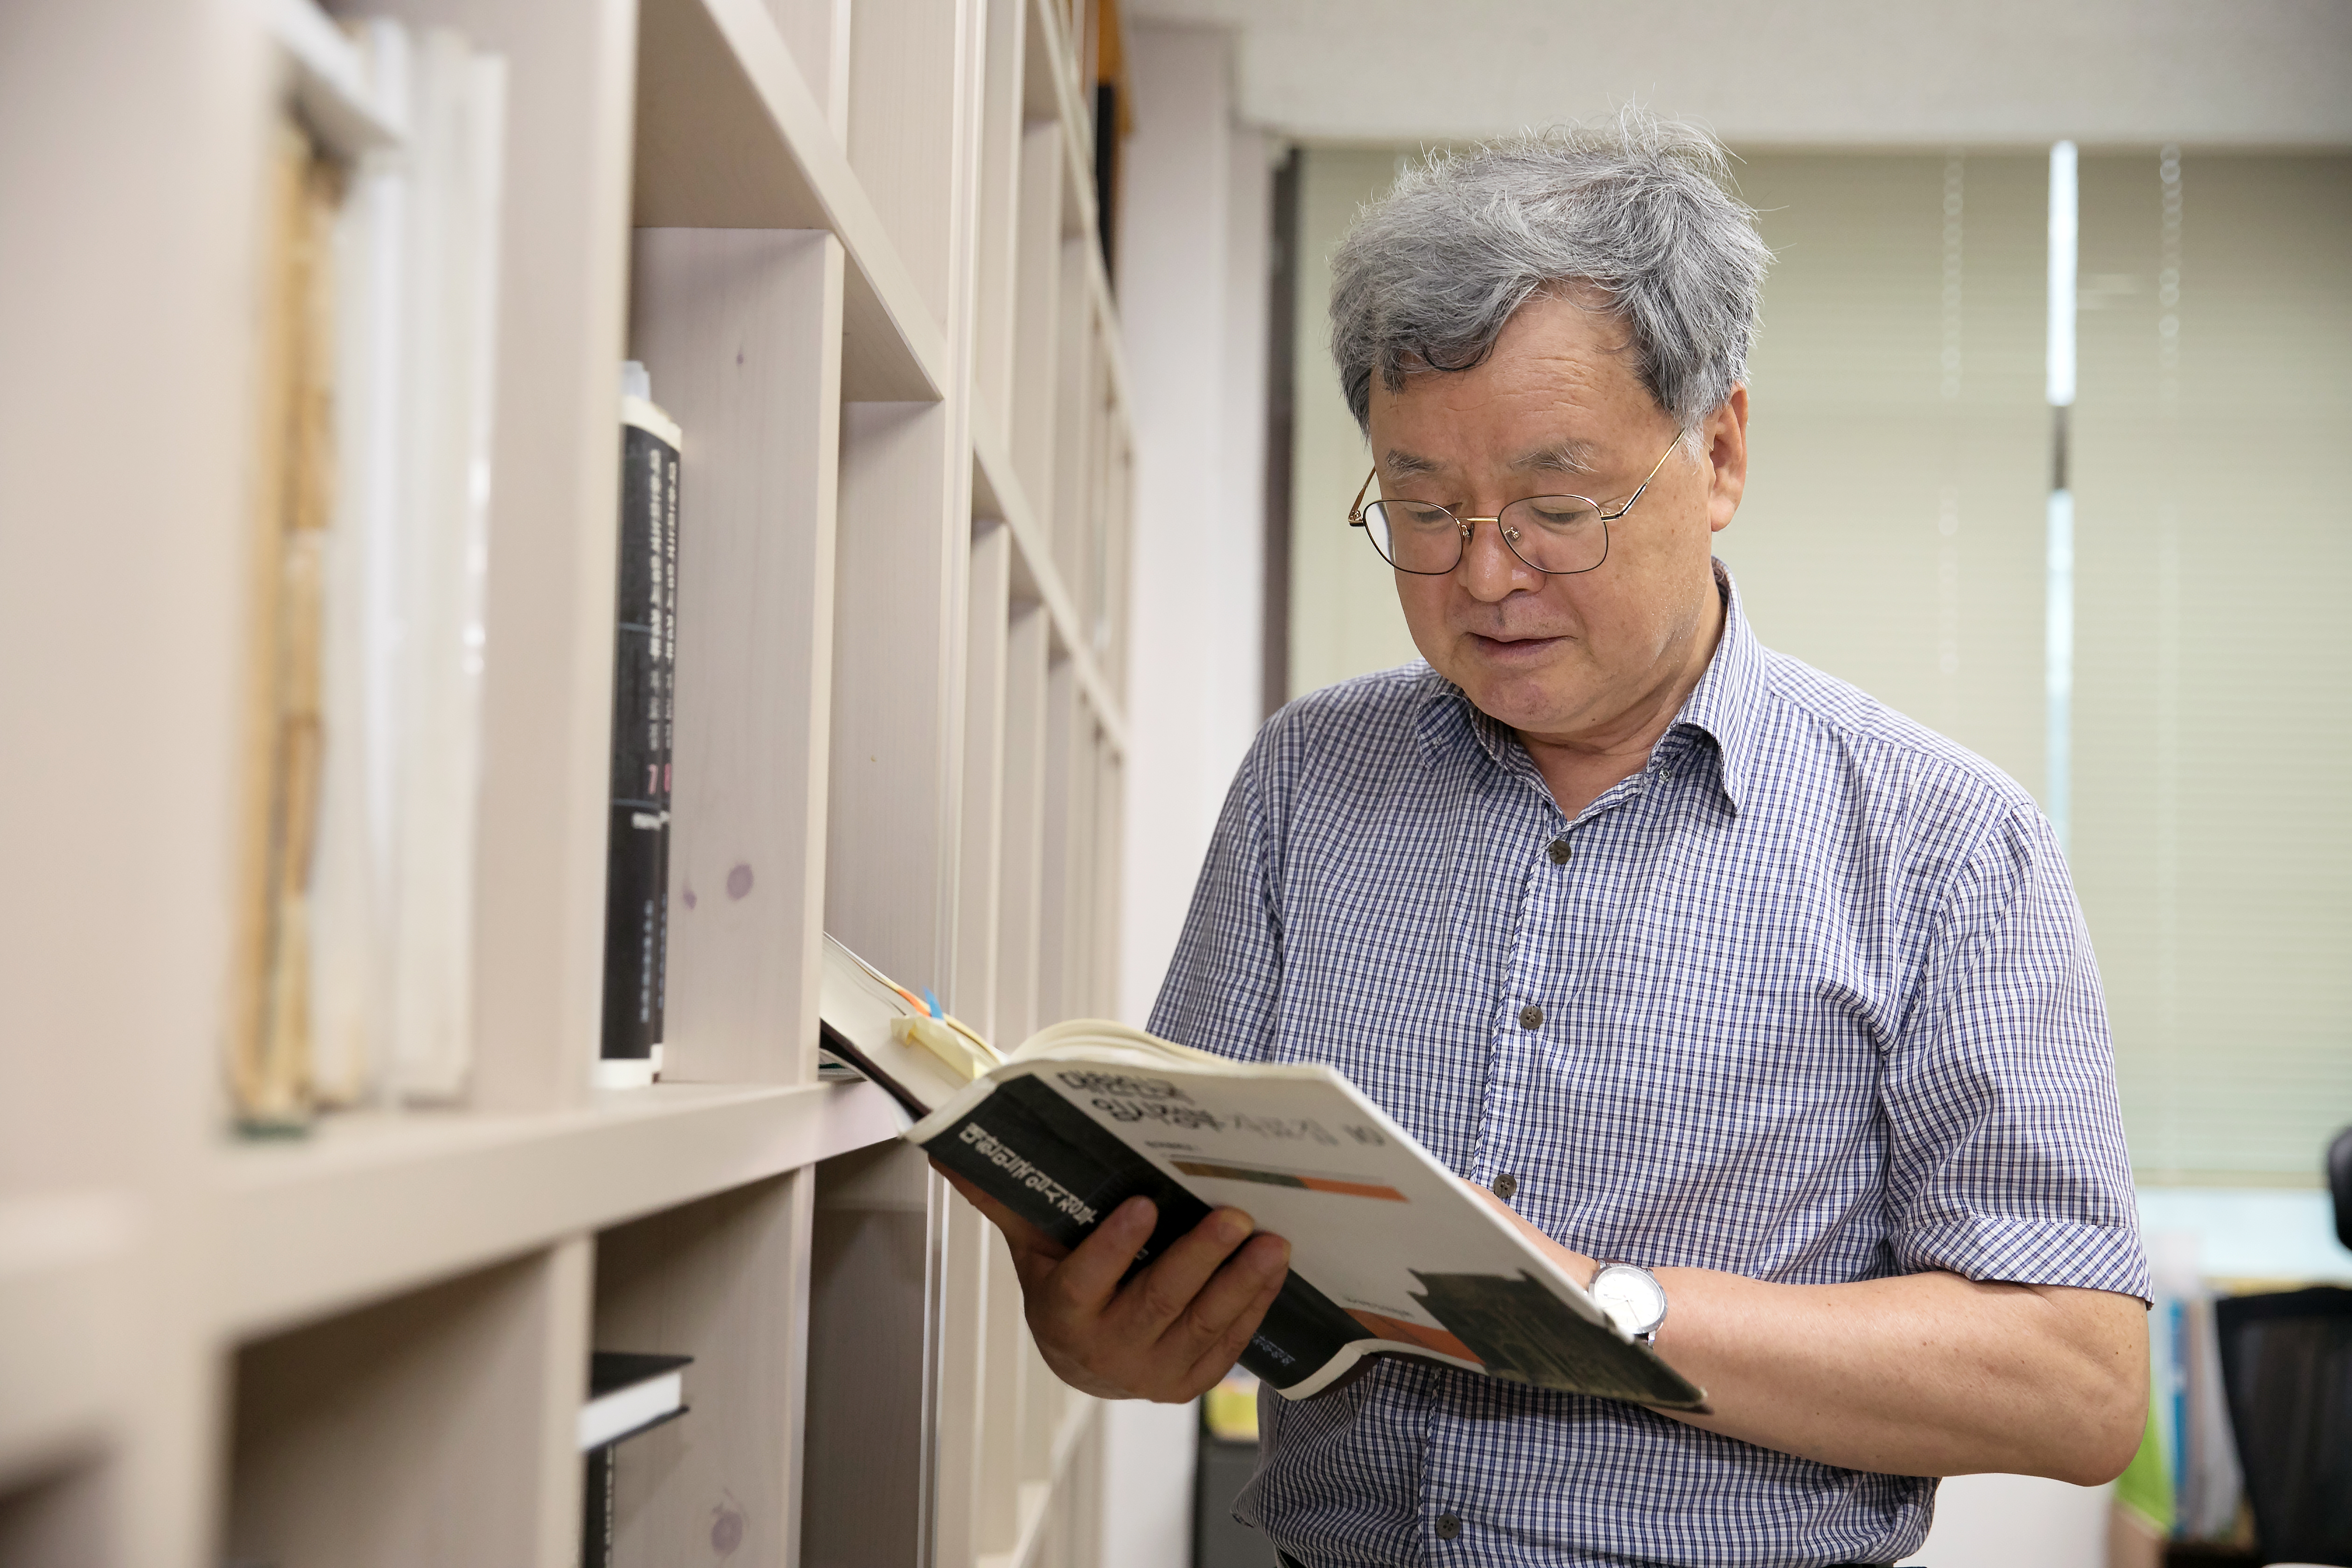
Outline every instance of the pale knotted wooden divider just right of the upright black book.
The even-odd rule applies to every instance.
[[[640,228],[630,341],[684,430],[666,1081],[816,1074],[842,454],[840,242]]]

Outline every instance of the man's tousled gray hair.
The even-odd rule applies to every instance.
[[[1628,106],[1430,153],[1364,207],[1331,254],[1331,355],[1355,423],[1371,376],[1486,360],[1534,294],[1588,284],[1632,336],[1635,369],[1684,435],[1748,381],[1771,252],[1703,129]]]

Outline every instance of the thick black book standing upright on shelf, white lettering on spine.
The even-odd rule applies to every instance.
[[[677,425],[644,369],[621,388],[621,557],[612,661],[612,825],[604,867],[604,1046],[597,1084],[661,1072],[670,950],[670,719],[677,672]]]

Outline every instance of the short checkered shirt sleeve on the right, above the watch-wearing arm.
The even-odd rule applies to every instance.
[[[1952,875],[1882,1103],[1896,1272],[2150,1295],[2098,964],[2032,806]]]

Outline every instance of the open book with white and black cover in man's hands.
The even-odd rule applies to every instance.
[[[1228,1204],[1287,1239],[1291,1274],[1242,1366],[1289,1399],[1404,1354],[1705,1408],[1331,1067],[1235,1063],[1091,1018],[1000,1056],[830,938],[821,1013],[826,1048],[898,1100],[910,1143],[1065,1246],[1138,1192],[1160,1208],[1138,1267]]]

